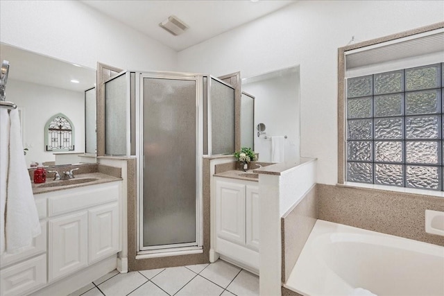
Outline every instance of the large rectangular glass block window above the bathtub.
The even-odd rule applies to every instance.
[[[444,190],[444,63],[347,80],[346,180]]]

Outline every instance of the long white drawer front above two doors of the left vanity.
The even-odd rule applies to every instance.
[[[119,199],[121,182],[80,187],[48,198],[49,216],[76,211]]]

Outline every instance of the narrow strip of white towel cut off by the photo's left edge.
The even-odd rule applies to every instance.
[[[0,107],[0,255],[5,252],[5,209],[9,163],[9,114]]]

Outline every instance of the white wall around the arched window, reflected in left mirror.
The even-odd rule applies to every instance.
[[[37,85],[8,79],[8,101],[23,110],[24,148],[26,165],[31,161],[53,162],[53,152],[45,151],[44,126],[58,113],[65,114],[75,128],[75,150],[85,152],[85,95],[67,89]]]

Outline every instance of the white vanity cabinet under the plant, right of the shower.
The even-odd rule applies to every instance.
[[[215,177],[215,250],[250,270],[259,270],[259,187],[257,182]]]

